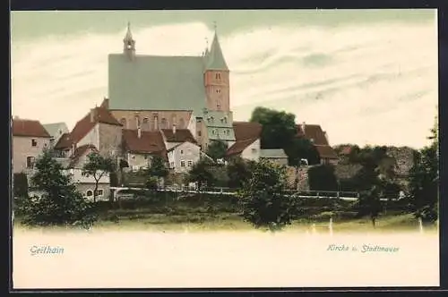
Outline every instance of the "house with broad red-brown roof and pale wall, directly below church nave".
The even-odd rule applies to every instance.
[[[167,149],[160,132],[124,129],[122,148],[123,157],[133,171],[148,168],[152,156],[168,161]]]

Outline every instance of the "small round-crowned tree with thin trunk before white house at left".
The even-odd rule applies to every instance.
[[[114,161],[111,157],[103,157],[98,151],[92,151],[87,155],[88,161],[82,166],[84,174],[91,175],[95,180],[95,190],[93,191],[93,202],[97,201],[98,183],[104,174],[114,171]]]

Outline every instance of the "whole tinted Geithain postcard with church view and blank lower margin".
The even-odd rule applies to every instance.
[[[436,16],[12,12],[13,288],[438,286]]]

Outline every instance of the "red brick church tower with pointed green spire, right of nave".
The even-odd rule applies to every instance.
[[[215,28],[210,51],[205,52],[204,86],[207,94],[207,109],[230,111],[229,71]]]

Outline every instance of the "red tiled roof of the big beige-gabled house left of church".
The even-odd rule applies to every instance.
[[[95,107],[93,112],[93,121],[91,121],[89,112],[89,114],[85,115],[81,121],[74,125],[72,132],[70,132],[70,138],[74,143],[78,143],[82,140],[82,138],[86,136],[97,123],[108,123],[116,126],[122,125],[121,123],[118,123],[116,118],[113,115],[110,115],[108,110],[104,107]]]

